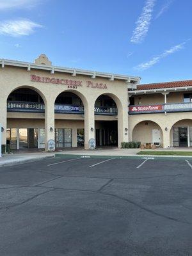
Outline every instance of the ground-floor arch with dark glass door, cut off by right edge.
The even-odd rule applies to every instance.
[[[172,147],[192,146],[191,119],[182,119],[172,125],[172,129],[170,129],[170,143]]]

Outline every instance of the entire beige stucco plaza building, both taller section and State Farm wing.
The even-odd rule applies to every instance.
[[[0,60],[0,124],[14,150],[192,145],[192,81],[140,85],[140,77]],[[129,108],[128,108],[129,106]]]

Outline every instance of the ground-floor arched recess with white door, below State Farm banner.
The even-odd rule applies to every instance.
[[[140,141],[141,144],[151,143],[163,147],[163,131],[156,122],[145,120],[134,126],[132,141]]]

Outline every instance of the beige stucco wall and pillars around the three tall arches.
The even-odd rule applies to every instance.
[[[31,75],[35,74],[35,76],[40,77],[51,77],[56,79],[68,79],[68,80],[76,80],[82,81],[82,86],[77,86],[77,88],[68,88],[67,85],[64,84],[51,84],[51,83],[38,83],[36,81],[31,81]],[[129,136],[125,132],[128,124],[128,116],[127,116],[127,83],[124,81],[109,81],[108,79],[101,79],[100,77],[96,77],[92,79],[92,77],[88,76],[71,76],[70,74],[63,73],[55,73],[50,74],[50,72],[45,70],[30,70],[27,71],[26,68],[19,67],[10,67],[5,66],[4,68],[0,68],[0,123],[4,127],[4,132],[2,132],[2,142],[6,144],[6,99],[8,95],[13,92],[13,90],[17,88],[31,88],[36,90],[44,100],[45,103],[45,141],[47,145],[48,140],[54,140],[54,102],[56,97],[60,95],[61,92],[73,92],[78,95],[84,104],[84,130],[85,130],[85,148],[88,148],[88,141],[90,138],[95,138],[95,113],[94,113],[94,104],[95,100],[102,95],[106,94],[112,97],[118,108],[118,146],[120,147],[120,143],[122,141],[129,141]],[[87,87],[87,81],[91,81],[92,83],[103,83],[107,85],[106,89],[102,88],[92,88]],[[14,116],[14,113],[8,113],[9,118]],[[28,113],[17,113],[17,118],[21,116],[27,116]],[[31,113],[30,113],[31,115]],[[42,114],[33,113],[34,117],[40,116],[42,118]],[[31,116],[33,116],[31,115]],[[16,116],[16,115],[15,115]],[[76,116],[77,117],[77,116]],[[52,128],[52,131],[51,129]],[[92,129],[93,128],[93,131]],[[46,147],[46,146],[45,146]],[[46,147],[47,148],[47,147]]]

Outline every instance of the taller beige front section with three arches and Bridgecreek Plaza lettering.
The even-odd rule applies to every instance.
[[[0,60],[2,143],[14,149],[89,148],[129,141],[127,88],[140,77]]]

